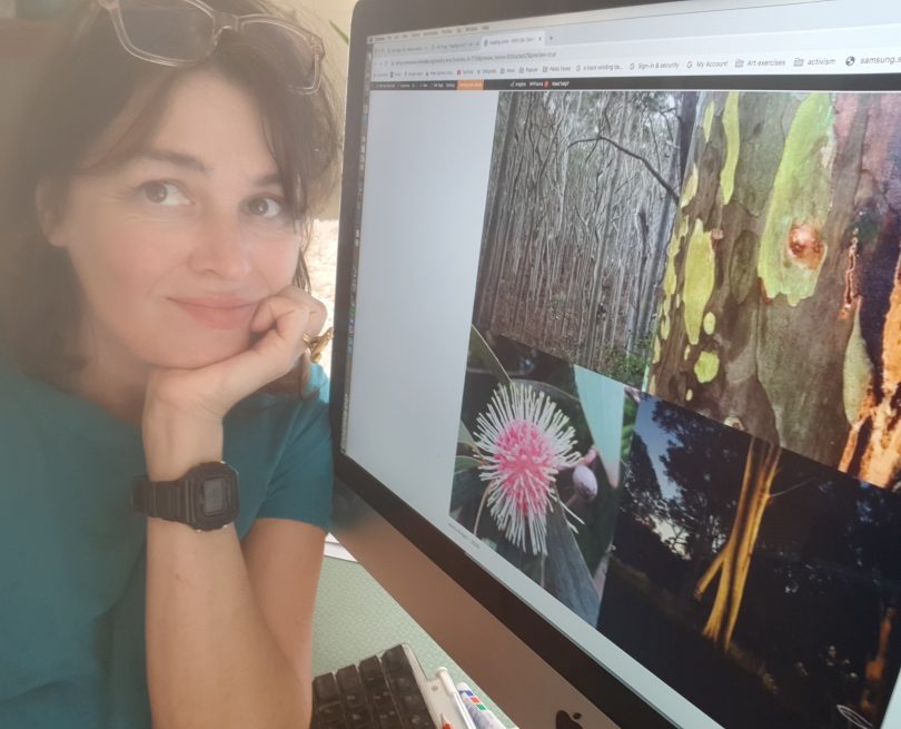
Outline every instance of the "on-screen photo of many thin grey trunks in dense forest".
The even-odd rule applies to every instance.
[[[474,321],[641,385],[696,95],[502,93]]]

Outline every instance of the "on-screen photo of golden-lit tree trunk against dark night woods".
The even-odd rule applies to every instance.
[[[730,729],[880,727],[901,495],[643,395],[598,629]]]

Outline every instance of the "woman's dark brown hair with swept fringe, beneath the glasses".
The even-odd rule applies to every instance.
[[[236,14],[263,12],[294,21],[268,0],[206,2]],[[140,114],[92,168],[121,162],[146,144],[170,89],[185,73],[209,68],[239,83],[259,105],[285,199],[307,234],[309,214],[333,188],[339,145],[329,86],[323,82],[315,93],[298,93],[290,88],[295,79],[285,59],[255,38],[225,31],[209,59],[170,68],[128,53],[106,11],[83,28],[90,6],[90,0],[85,2],[61,28],[26,106],[3,165],[7,179],[0,184],[0,352],[26,374],[61,390],[70,388],[83,365],[73,346],[81,315],[78,282],[67,252],[41,233],[37,189],[40,184],[47,190],[46,207],[52,215],[62,204],[68,179],[83,169],[88,149],[127,105],[139,104]],[[303,256],[295,284],[309,288]],[[286,376],[291,384],[278,381],[275,390],[303,387],[307,370],[298,367]]]

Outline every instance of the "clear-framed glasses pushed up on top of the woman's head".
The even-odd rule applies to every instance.
[[[261,42],[279,62],[297,68],[291,89],[319,88],[325,47],[306,30],[270,16],[236,16],[202,0],[95,0],[109,11],[116,35],[132,56],[164,66],[191,66],[216,50],[224,30]]]

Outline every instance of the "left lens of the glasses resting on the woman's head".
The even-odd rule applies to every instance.
[[[137,50],[171,61],[197,61],[212,46],[214,18],[185,0],[120,0],[126,36]]]

